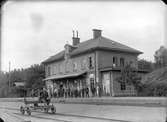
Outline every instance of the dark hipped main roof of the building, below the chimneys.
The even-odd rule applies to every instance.
[[[96,39],[89,39],[87,41],[79,43],[77,45],[77,48],[74,49],[70,55],[74,56],[95,49],[106,49],[112,51],[128,52],[133,54],[142,54],[142,52],[139,50],[136,50],[134,48],[128,47],[124,44],[118,43],[116,41],[101,36]],[[64,58],[64,50],[54,56],[49,57],[42,63],[50,63],[63,58]]]

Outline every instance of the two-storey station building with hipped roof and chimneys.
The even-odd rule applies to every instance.
[[[135,95],[132,85],[119,83],[121,67],[131,63],[137,68],[137,57],[142,52],[102,36],[102,31],[93,29],[93,38],[80,42],[73,33],[73,45],[49,57],[45,65],[47,87],[82,90],[89,88],[92,96]],[[99,90],[100,89],[100,90]]]

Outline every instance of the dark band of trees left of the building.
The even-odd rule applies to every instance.
[[[43,65],[32,65],[26,69],[13,70],[10,73],[0,73],[0,97],[23,96],[23,88],[40,88],[44,86],[45,77]],[[15,86],[15,82],[24,82],[24,87]]]

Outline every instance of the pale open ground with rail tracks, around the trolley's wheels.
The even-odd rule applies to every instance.
[[[5,122],[165,122],[166,108],[55,104],[57,114],[32,112],[31,116],[19,112],[21,102],[0,102],[0,117]]]

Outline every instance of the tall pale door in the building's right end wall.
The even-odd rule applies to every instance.
[[[110,96],[110,73],[106,72],[102,74],[103,94]]]

